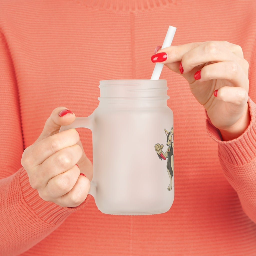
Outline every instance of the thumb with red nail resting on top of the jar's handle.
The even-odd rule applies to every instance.
[[[59,132],[61,125],[68,125],[74,122],[75,114],[65,107],[58,107],[54,109],[45,122],[44,129],[37,141],[41,141],[53,134]]]

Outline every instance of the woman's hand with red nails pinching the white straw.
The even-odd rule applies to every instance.
[[[240,46],[225,41],[170,46],[152,61],[182,74],[223,140],[237,138],[247,129],[249,65]]]

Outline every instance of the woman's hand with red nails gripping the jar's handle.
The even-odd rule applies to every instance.
[[[75,117],[64,107],[56,108],[21,159],[31,187],[42,199],[63,207],[80,205],[88,195],[92,178],[92,163],[84,153],[79,133],[75,129],[59,133],[60,126],[71,124]],[[86,177],[80,175],[80,169]]]

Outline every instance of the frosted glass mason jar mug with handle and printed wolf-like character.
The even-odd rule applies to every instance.
[[[173,112],[166,80],[100,81],[99,105],[60,131],[92,131],[91,194],[105,214],[166,212],[174,200]]]

